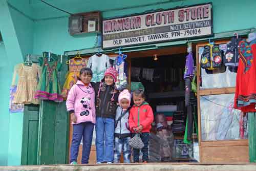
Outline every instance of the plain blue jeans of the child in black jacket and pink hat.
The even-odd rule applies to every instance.
[[[97,162],[113,162],[115,120],[96,117]]]

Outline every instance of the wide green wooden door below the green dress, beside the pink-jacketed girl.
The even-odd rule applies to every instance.
[[[67,56],[62,57],[58,73],[60,87],[66,79]],[[69,115],[66,102],[42,100],[40,103],[39,140],[37,164],[66,164],[68,162]]]

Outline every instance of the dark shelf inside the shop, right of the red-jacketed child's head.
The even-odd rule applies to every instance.
[[[170,97],[185,97],[185,91],[171,91],[171,92],[161,92],[161,93],[148,93],[149,99],[159,99],[159,98],[170,98]]]

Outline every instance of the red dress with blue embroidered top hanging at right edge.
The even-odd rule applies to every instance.
[[[240,59],[234,108],[242,112],[256,112],[256,37],[250,42],[243,39],[239,46]]]

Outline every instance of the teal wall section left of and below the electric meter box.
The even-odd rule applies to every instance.
[[[64,51],[92,48],[95,42],[95,33],[80,37],[70,36],[68,17],[41,20],[34,23],[33,54],[41,54],[42,51],[63,54]]]

